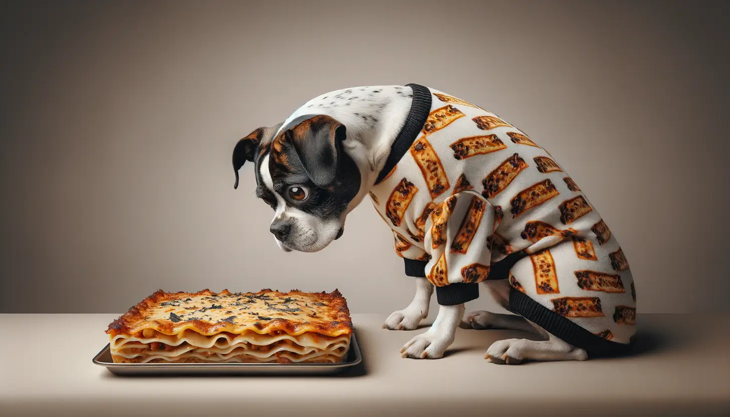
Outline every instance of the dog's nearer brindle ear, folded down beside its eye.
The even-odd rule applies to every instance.
[[[347,137],[345,125],[326,115],[316,115],[287,129],[284,136],[293,145],[307,175],[318,187],[337,177],[341,142]]]

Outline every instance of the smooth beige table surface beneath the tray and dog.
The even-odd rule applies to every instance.
[[[386,315],[353,314],[363,363],[337,377],[115,376],[91,359],[117,316],[0,315],[0,415],[730,413],[730,316],[639,315],[633,356],[510,366],[485,361],[486,349],[530,334],[458,329],[444,358],[403,359],[399,348],[425,326],[389,331]]]

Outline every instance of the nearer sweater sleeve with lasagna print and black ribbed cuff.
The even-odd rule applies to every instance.
[[[439,305],[457,305],[479,297],[478,283],[491,264],[488,242],[494,210],[474,191],[445,199],[426,221],[423,245],[429,252],[426,278],[436,286]]]

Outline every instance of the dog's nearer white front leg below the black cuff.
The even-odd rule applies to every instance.
[[[418,334],[401,348],[404,358],[438,359],[453,343],[456,327],[464,316],[464,305],[439,305],[436,321],[427,332]]]

